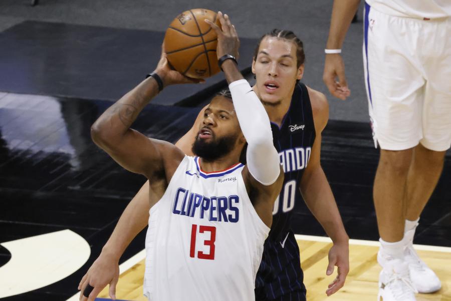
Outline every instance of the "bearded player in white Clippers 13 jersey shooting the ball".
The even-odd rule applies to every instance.
[[[152,301],[254,300],[283,183],[268,114],[236,64],[235,27],[227,15],[218,18],[221,28],[207,23],[218,35],[217,56],[232,100],[215,97],[204,111],[193,144],[198,157],[130,129],[164,86],[190,82],[168,67],[164,51],[155,72],[91,128],[94,142],[116,162],[150,180],[144,294]],[[94,300],[101,289],[90,280],[82,279],[81,299]]]

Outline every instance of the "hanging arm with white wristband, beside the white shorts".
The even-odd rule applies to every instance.
[[[334,0],[326,49],[341,49],[359,3],[360,0]],[[335,81],[337,77],[338,82]],[[345,100],[351,94],[340,54],[326,54],[323,81],[330,94],[341,100]]]

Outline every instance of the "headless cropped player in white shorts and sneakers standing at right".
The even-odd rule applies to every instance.
[[[323,79],[341,99],[350,92],[339,53],[359,2],[334,1]],[[441,286],[413,249],[413,236],[451,145],[451,2],[367,0],[363,57],[373,138],[381,148],[373,190],[379,297],[415,300],[414,292]]]

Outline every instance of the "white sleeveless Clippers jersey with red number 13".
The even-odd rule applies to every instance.
[[[150,209],[144,295],[151,301],[249,301],[269,228],[249,199],[244,165],[205,173],[185,156]]]

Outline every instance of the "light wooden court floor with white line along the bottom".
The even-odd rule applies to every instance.
[[[301,266],[304,269],[304,281],[309,301],[375,301],[377,297],[377,280],[381,270],[376,262],[378,242],[353,240],[349,245],[351,270],[345,286],[327,297],[327,285],[333,280],[336,271],[326,276],[327,254],[330,240],[326,237],[296,235],[301,250]],[[451,301],[451,248],[422,246],[415,247],[420,257],[431,267],[441,280],[441,289],[433,294],[417,294],[417,301]],[[139,256],[143,256],[143,252]],[[135,261],[136,261],[135,257]],[[137,258],[139,260],[139,258]],[[128,263],[127,269],[121,265],[121,275],[117,285],[118,299],[147,301],[142,295],[144,259],[136,264]],[[99,297],[108,298],[108,287]]]

